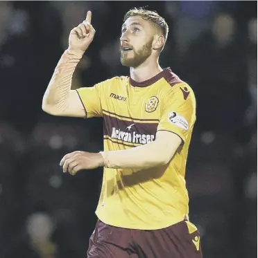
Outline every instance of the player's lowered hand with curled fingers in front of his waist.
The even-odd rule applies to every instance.
[[[103,165],[103,157],[100,153],[86,151],[74,151],[65,155],[60,161],[62,171],[75,175],[79,170],[94,169]]]

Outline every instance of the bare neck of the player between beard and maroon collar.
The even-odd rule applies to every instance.
[[[153,62],[153,60],[146,60],[146,62],[140,66],[130,67],[130,77],[135,82],[144,82],[154,77],[161,71],[163,71],[163,69],[160,67],[157,60],[155,62]]]

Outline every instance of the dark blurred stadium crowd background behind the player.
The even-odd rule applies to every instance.
[[[87,257],[102,169],[72,177],[58,164],[69,151],[101,150],[102,120],[51,117],[42,96],[87,10],[96,37],[73,89],[128,75],[119,34],[134,6],[166,19],[162,67],[196,93],[187,187],[204,257],[257,257],[256,1],[0,1],[1,258]]]

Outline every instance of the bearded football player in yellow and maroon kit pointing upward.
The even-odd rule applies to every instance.
[[[184,180],[196,100],[188,84],[159,65],[166,21],[156,12],[129,10],[121,28],[121,64],[130,66],[130,77],[71,91],[76,65],[94,38],[91,16],[87,12],[71,30],[42,103],[53,116],[104,120],[103,151],[74,151],[60,161],[72,175],[104,167],[87,255],[202,257],[200,234],[188,219]]]

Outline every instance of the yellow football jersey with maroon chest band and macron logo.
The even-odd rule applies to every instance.
[[[154,230],[182,221],[189,198],[184,174],[196,100],[171,68],[145,82],[121,76],[77,90],[87,118],[103,117],[104,151],[155,140],[166,130],[182,138],[168,165],[150,169],[105,168],[98,219],[121,228]]]

